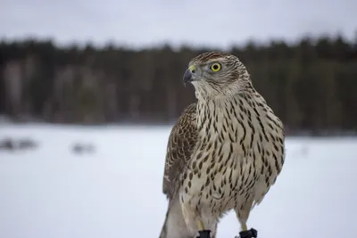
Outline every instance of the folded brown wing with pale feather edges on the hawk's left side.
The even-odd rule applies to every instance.
[[[197,128],[195,122],[196,103],[192,103],[182,112],[178,122],[172,127],[167,145],[163,175],[162,192],[172,199],[179,189],[180,177],[187,168],[188,161],[195,148]]]

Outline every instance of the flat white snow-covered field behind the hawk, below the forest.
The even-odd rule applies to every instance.
[[[0,151],[1,238],[157,238],[170,127],[0,127],[33,151]],[[74,153],[76,142],[95,145]],[[248,226],[260,238],[355,237],[357,138],[288,138],[285,168]],[[234,213],[218,238],[239,232]]]

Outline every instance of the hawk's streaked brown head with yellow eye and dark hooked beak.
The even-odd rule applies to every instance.
[[[239,94],[253,88],[248,71],[229,53],[202,53],[188,63],[184,83],[195,86],[197,97],[212,98]]]

